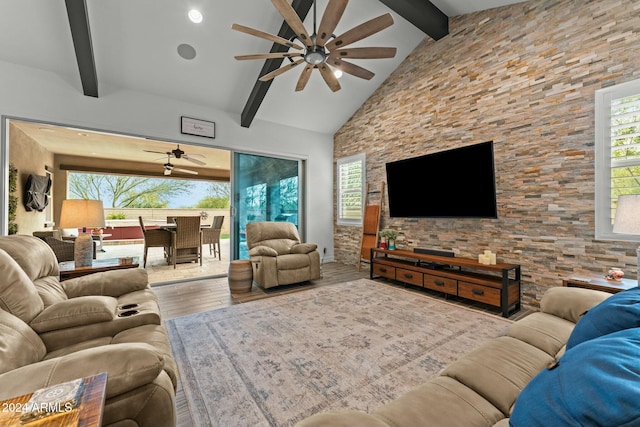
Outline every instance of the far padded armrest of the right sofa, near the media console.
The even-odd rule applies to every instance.
[[[543,313],[578,323],[591,307],[600,304],[612,294],[592,289],[558,286],[548,289],[540,300]]]

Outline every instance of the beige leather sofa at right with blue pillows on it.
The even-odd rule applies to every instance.
[[[578,330],[582,336],[586,331],[588,341],[569,348]],[[319,413],[296,426],[638,425],[638,354],[638,288],[615,298],[588,289],[551,288],[540,312],[513,323],[505,336],[425,384],[371,413]]]

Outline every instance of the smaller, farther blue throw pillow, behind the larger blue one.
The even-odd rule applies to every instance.
[[[581,342],[640,326],[640,288],[618,292],[591,308],[576,323],[567,350]]]

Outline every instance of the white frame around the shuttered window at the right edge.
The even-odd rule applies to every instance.
[[[639,235],[613,232],[611,218],[611,103],[640,95],[640,80],[599,89],[595,92],[595,238],[640,242]],[[640,166],[640,159],[633,164]]]

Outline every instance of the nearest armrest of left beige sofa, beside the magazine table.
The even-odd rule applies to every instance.
[[[107,372],[107,399],[153,382],[163,356],[149,344],[110,344],[32,363],[0,375],[0,400]]]

